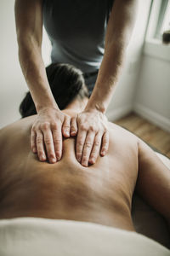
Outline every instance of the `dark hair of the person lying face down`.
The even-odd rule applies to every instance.
[[[52,63],[46,67],[48,83],[57,102],[59,109],[64,109],[77,96],[80,99],[88,97],[88,88],[82,71],[71,64]],[[37,110],[32,100],[31,93],[27,92],[20,103],[22,118],[36,114]]]

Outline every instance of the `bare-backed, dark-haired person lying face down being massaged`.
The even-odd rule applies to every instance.
[[[59,108],[74,118],[88,102],[82,73],[68,64],[53,64],[47,73]],[[70,90],[65,90],[68,83]],[[63,138],[62,159],[51,165],[40,162],[29,146],[36,118],[29,93],[20,113],[23,119],[0,131],[1,219],[70,219],[135,231],[131,206],[136,189],[169,222],[170,171],[138,137],[110,122],[105,158],[82,166],[75,155],[77,137],[69,137]]]

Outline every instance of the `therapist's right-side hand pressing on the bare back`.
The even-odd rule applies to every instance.
[[[98,110],[84,110],[77,115],[77,126],[77,160],[82,166],[88,166],[88,162],[94,164],[99,154],[104,156],[109,147],[107,118]]]

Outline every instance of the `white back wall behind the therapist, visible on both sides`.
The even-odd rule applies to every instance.
[[[133,109],[133,98],[139,75],[140,55],[144,42],[151,0],[139,0],[139,14],[127,49],[127,61],[107,115],[116,119]],[[20,70],[14,26],[14,0],[0,1],[0,127],[20,118],[19,104],[27,90]],[[45,64],[49,62],[50,44],[45,34],[42,44]]]

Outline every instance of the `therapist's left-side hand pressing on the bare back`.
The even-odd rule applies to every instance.
[[[38,159],[55,163],[62,154],[62,134],[70,137],[71,118],[59,109],[42,108],[31,127],[31,150]]]

